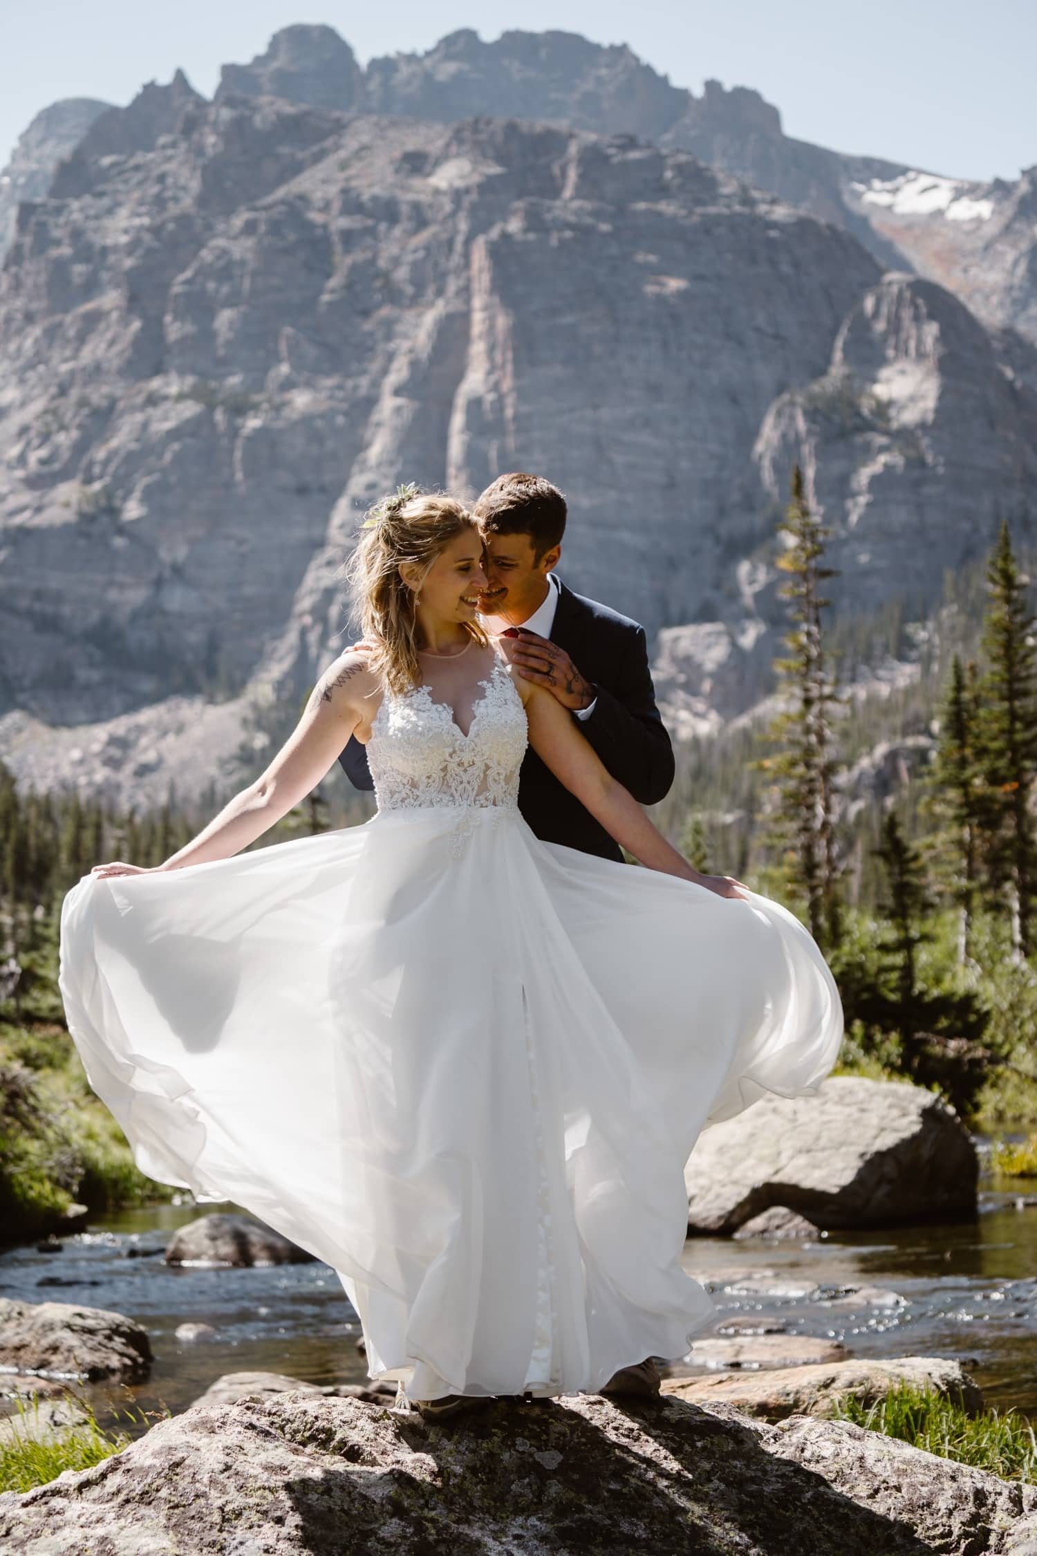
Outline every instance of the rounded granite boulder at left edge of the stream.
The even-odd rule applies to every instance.
[[[151,1362],[148,1330],[123,1313],[0,1298],[0,1368],[9,1372],[134,1382]]]

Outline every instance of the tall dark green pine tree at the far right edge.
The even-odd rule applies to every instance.
[[[1029,800],[1037,773],[1037,644],[1029,610],[1029,580],[1001,523],[987,565],[989,604],[983,624],[986,674],[979,685],[979,761],[989,811],[986,818],[989,884],[1007,898],[1012,949],[1034,949],[1034,822]]]

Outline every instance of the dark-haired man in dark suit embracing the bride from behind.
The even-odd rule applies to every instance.
[[[648,669],[644,627],[608,605],[574,594],[555,574],[566,527],[566,499],[543,476],[498,476],[476,503],[487,548],[484,626],[507,633],[507,652],[527,680],[547,686],[599,758],[641,804],[662,800],[673,783],[673,748]],[[356,789],[373,789],[364,745],[350,739],[339,756]],[[603,859],[622,851],[600,822],[529,750],[519,811],[549,843]]]

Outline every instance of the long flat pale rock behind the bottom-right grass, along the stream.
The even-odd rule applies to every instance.
[[[771,1368],[762,1372],[717,1372],[711,1377],[665,1377],[662,1393],[693,1405],[734,1405],[748,1416],[784,1421],[785,1416],[832,1416],[854,1394],[875,1405],[900,1383],[944,1394],[970,1413],[983,1410],[983,1391],[959,1362],[947,1357],[857,1357],[810,1366]]]

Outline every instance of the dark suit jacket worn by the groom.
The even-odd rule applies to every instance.
[[[558,591],[552,641],[597,686],[589,719],[577,720],[613,778],[641,804],[656,804],[673,783],[673,747],[655,702],[645,630],[628,616],[574,594]],[[356,789],[373,789],[367,752],[350,739],[339,756]],[[580,848],[585,854],[622,859],[619,845],[575,795],[529,750],[519,773],[519,811],[549,843]]]

